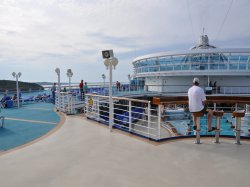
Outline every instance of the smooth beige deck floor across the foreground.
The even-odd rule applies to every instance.
[[[54,133],[0,153],[1,187],[249,186],[250,142],[202,138],[160,144],[66,116]]]

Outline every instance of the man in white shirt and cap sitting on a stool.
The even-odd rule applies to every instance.
[[[207,114],[207,126],[208,132],[214,131],[215,127],[212,127],[212,118],[213,111],[211,109],[207,109],[206,104],[206,96],[204,90],[199,87],[200,81],[197,77],[193,80],[193,86],[188,90],[188,104],[189,111],[192,113],[203,112]],[[194,116],[194,129],[197,127],[197,117]]]

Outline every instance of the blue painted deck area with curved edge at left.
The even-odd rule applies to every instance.
[[[26,144],[55,128],[60,117],[53,108],[51,103],[33,103],[19,109],[2,109],[1,115],[6,119],[0,128],[0,151]]]

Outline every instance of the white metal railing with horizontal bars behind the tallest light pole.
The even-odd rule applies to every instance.
[[[114,97],[113,100],[113,127],[153,140],[160,140],[159,109],[152,107],[150,101],[122,97]],[[107,96],[86,94],[85,105],[88,118],[109,124]]]

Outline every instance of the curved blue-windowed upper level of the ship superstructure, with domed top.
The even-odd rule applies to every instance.
[[[250,48],[216,48],[207,35],[190,50],[149,54],[133,60],[135,77],[250,73]]]

